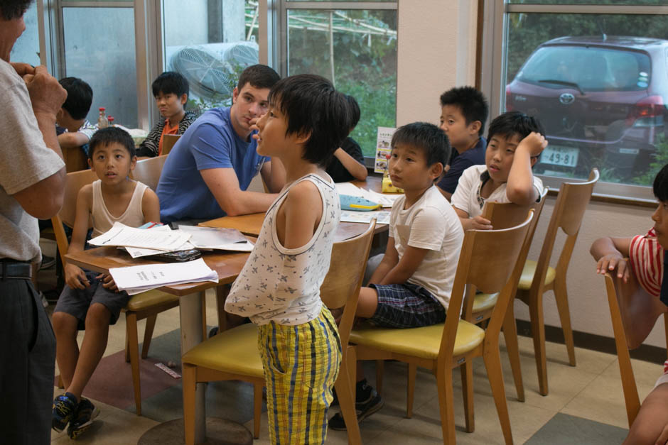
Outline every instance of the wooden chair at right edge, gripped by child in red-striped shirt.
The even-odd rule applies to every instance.
[[[610,318],[613,322],[626,415],[630,428],[640,410],[640,397],[635,385],[629,349],[635,349],[645,341],[661,314],[664,316],[668,344],[668,308],[657,297],[652,297],[645,292],[632,272],[627,282],[617,278],[616,274],[612,276],[606,273],[605,290],[608,292]]]

